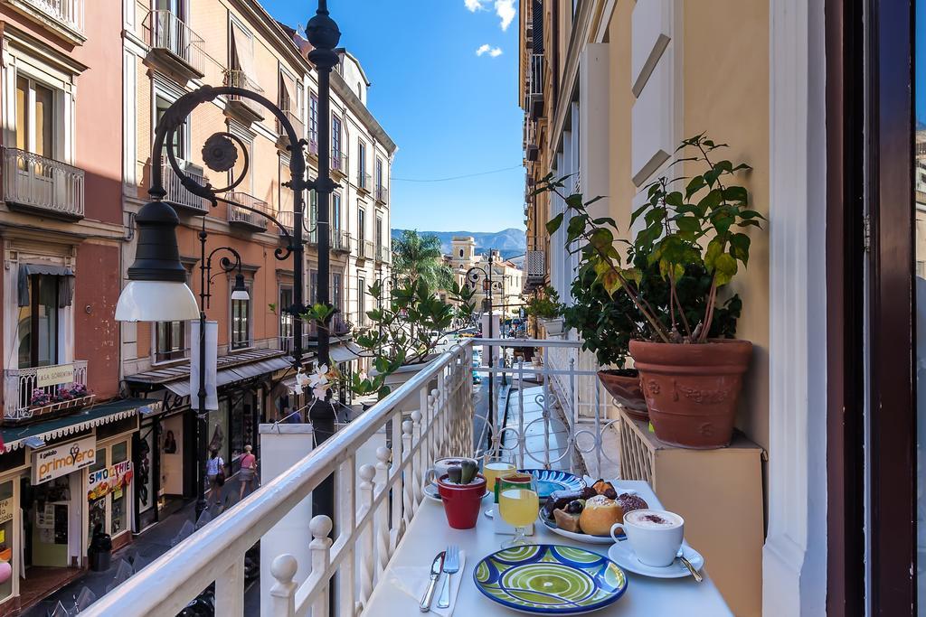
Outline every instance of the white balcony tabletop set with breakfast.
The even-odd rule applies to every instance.
[[[644,481],[620,481],[621,488],[635,489],[646,500],[651,508],[660,508],[649,485]],[[489,500],[483,501],[482,510],[488,507]],[[584,544],[573,542],[566,537],[550,532],[543,524],[535,524],[535,533],[531,538],[538,544],[562,544],[577,546],[583,549],[594,550],[607,556],[610,545]],[[467,553],[466,565],[463,570],[455,574],[463,576],[459,595],[454,605],[454,615],[457,617],[490,617],[493,615],[510,616],[519,614],[489,598],[485,598],[476,588],[472,580],[472,573],[476,564],[483,557],[500,549],[506,536],[496,535],[492,522],[480,514],[479,523],[475,529],[451,529],[444,516],[444,506],[436,501],[424,500],[419,512],[415,514],[409,525],[405,537],[399,543],[392,560],[387,566],[387,572],[380,577],[364,614],[370,617],[384,615],[414,615],[419,614],[418,603],[404,591],[389,583],[389,570],[400,566],[431,566],[434,555],[444,549],[448,544],[457,544]],[[697,547],[694,547],[697,549]],[[706,563],[704,581],[695,583],[692,577],[682,579],[655,579],[638,574],[627,573],[628,586],[623,597],[614,604],[594,611],[594,615],[685,615],[686,617],[721,617],[732,615],[720,591],[711,582],[707,575]],[[434,600],[436,604],[436,599]]]

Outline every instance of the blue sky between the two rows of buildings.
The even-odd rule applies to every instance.
[[[314,2],[262,3],[290,26],[314,15]],[[399,146],[393,227],[523,228],[517,0],[329,0],[328,6],[341,45],[372,82],[370,111]],[[403,180],[503,168],[467,179]]]

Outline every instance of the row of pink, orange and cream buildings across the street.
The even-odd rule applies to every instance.
[[[356,356],[337,343],[370,308],[360,290],[389,276],[396,146],[369,113],[369,80],[349,53],[332,74],[332,117],[319,118],[309,49],[253,0],[0,2],[0,561],[13,571],[0,584],[0,615],[80,576],[95,531],[119,548],[195,495],[191,327],[113,319],[136,250],[134,215],[147,201],[156,123],[183,93],[234,85],[279,105],[307,142],[310,178],[319,122],[331,123],[331,300],[339,309],[332,358],[344,372],[356,370]],[[244,144],[228,173],[203,165],[201,148],[216,132]],[[169,147],[187,175],[235,182],[232,201],[292,232],[281,133],[268,111],[219,97],[197,107]],[[292,258],[274,258],[286,241],[272,223],[234,205],[210,208],[169,169],[164,180],[194,293],[201,230],[206,253],[229,246],[242,257],[249,300],[232,301],[233,276],[219,267],[228,253],[219,252],[206,307],[219,324],[221,384],[207,441],[234,472],[245,444],[259,450],[257,423],[299,405],[287,383],[293,322],[277,308],[292,303]],[[314,301],[313,194],[306,204],[304,297]],[[307,362],[316,337],[308,327]],[[349,402],[347,393],[341,399]]]

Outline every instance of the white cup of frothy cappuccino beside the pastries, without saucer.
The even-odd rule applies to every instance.
[[[616,532],[623,530],[641,563],[664,568],[675,561],[682,547],[684,525],[684,519],[675,512],[634,510],[624,514],[623,523],[611,526],[611,538],[618,542]]]

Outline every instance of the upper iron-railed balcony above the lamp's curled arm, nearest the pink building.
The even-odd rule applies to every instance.
[[[149,11],[144,19],[150,51],[146,60],[166,68],[185,80],[206,75],[204,41],[169,10]]]

